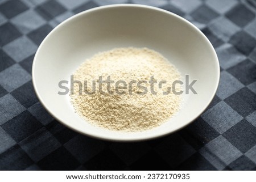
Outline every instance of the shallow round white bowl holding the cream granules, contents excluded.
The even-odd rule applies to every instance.
[[[57,94],[79,65],[98,52],[118,47],[147,47],[163,54],[181,72],[196,79],[196,94],[184,95],[180,111],[163,125],[143,132],[114,132],[93,126],[75,113],[69,95]],[[220,67],[207,37],[187,20],[144,5],[101,6],[59,24],[43,40],[32,66],[39,100],[56,120],[88,136],[113,141],[140,141],[175,132],[208,107],[216,93]]]

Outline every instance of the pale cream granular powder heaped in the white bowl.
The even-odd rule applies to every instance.
[[[110,76],[114,83],[111,84],[110,91],[106,84],[102,84],[100,93],[97,86],[99,77],[106,81]],[[157,81],[154,84],[154,91],[150,91],[151,76]],[[93,91],[92,81],[96,81],[96,91],[94,94],[79,95],[79,84],[74,84],[74,94],[71,94],[71,101],[77,113],[86,121],[110,130],[123,130],[136,132],[152,129],[159,126],[168,118],[172,117],[178,110],[181,101],[180,95],[172,92],[163,95],[171,83],[180,80],[179,71],[170,64],[161,54],[147,48],[116,48],[107,52],[98,53],[89,60],[86,60],[75,71],[74,80],[83,83],[87,81],[87,90]],[[115,91],[115,82],[125,81],[127,89],[119,89],[119,94]],[[129,93],[129,83],[132,84]],[[143,89],[137,86],[137,82],[142,82],[141,86],[147,87],[147,93],[143,94]],[[167,81],[159,88],[160,81]],[[180,90],[176,86],[176,91]],[[119,88],[123,84],[119,84]],[[84,88],[83,88],[84,89]],[[120,94],[121,92],[121,94]]]

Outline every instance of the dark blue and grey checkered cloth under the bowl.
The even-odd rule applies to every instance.
[[[106,142],[39,103],[31,65],[41,41],[70,16],[112,3],[174,12],[212,42],[220,86],[193,124],[152,141]],[[256,170],[255,11],[253,0],[0,0],[0,170]]]

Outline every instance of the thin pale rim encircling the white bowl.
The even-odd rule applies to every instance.
[[[35,81],[35,65],[36,65],[36,60],[38,57],[38,54],[40,52],[40,49],[42,48],[44,42],[48,39],[49,36],[52,35],[53,32],[57,31],[57,29],[61,26],[63,26],[65,23],[77,18],[78,16],[84,15],[84,14],[88,14],[89,12],[92,11],[98,11],[98,10],[103,10],[103,9],[111,9],[111,8],[116,8],[116,7],[141,7],[143,9],[150,9],[150,10],[154,10],[154,11],[160,11],[160,12],[164,12],[168,15],[171,16],[175,16],[175,18],[179,19],[181,22],[184,22],[186,24],[188,24],[189,26],[191,26],[193,29],[195,29],[195,31],[197,33],[199,33],[202,37],[204,37],[204,39],[207,41],[207,44],[210,48],[210,51],[213,53],[214,56],[214,60],[215,60],[215,64],[217,66],[217,70],[216,71],[216,78],[217,78],[217,82],[214,86],[214,90],[212,92],[212,95],[209,96],[209,100],[207,102],[207,104],[205,105],[204,108],[200,109],[200,112],[196,114],[196,117],[191,118],[191,120],[189,122],[187,122],[187,124],[181,126],[179,129],[174,129],[174,130],[170,130],[169,132],[165,132],[165,133],[156,133],[154,136],[150,136],[150,137],[138,137],[137,139],[134,138],[114,138],[114,137],[107,137],[107,136],[102,136],[101,134],[95,133],[95,134],[89,134],[89,133],[85,133],[82,130],[73,128],[72,125],[68,125],[66,124],[64,121],[62,121],[60,118],[58,118],[57,116],[55,116],[54,113],[51,112],[51,110],[48,108],[47,104],[45,103],[44,99],[40,96],[39,91],[38,91],[38,87]],[[85,136],[89,136],[92,138],[97,138],[97,139],[103,139],[106,141],[115,141],[115,142],[137,142],[137,141],[146,141],[146,140],[150,140],[150,139],[155,139],[155,138],[159,138],[159,137],[163,137],[163,136],[167,136],[168,134],[171,133],[175,133],[183,128],[185,128],[185,126],[191,124],[193,121],[196,120],[196,118],[200,117],[200,115],[208,108],[209,104],[212,102],[214,96],[216,95],[217,92],[217,88],[218,88],[218,84],[220,83],[220,63],[218,61],[218,57],[217,57],[217,53],[215,51],[215,49],[213,48],[212,43],[210,43],[209,39],[207,38],[207,36],[204,35],[203,32],[201,32],[201,30],[199,28],[197,28],[194,24],[192,24],[191,22],[189,22],[188,20],[182,18],[179,15],[174,14],[173,12],[167,11],[167,10],[163,10],[160,9],[159,7],[154,7],[154,6],[148,6],[148,5],[139,5],[139,4],[114,4],[114,5],[105,5],[105,6],[99,6],[99,7],[94,7],[92,9],[89,10],[85,10],[82,12],[79,12],[78,14],[75,14],[73,16],[71,16],[70,18],[64,20],[63,22],[61,22],[59,25],[57,25],[55,28],[52,29],[51,32],[48,33],[48,35],[44,38],[44,40],[42,41],[42,43],[40,43],[38,49],[36,50],[35,56],[34,56],[34,60],[32,62],[32,84],[35,90],[35,94],[38,97],[40,103],[43,105],[43,107],[47,110],[47,112],[49,113],[49,115],[51,115],[53,118],[55,118],[57,121],[59,121],[61,124],[63,124],[64,126],[66,126],[69,129],[75,130],[75,132],[83,134]]]

